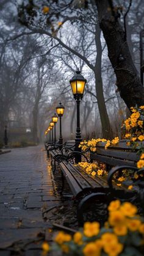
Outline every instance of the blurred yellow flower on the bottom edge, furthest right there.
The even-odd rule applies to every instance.
[[[117,256],[120,254],[120,252],[123,251],[123,244],[120,244],[120,243],[106,244],[106,246],[104,246],[104,251],[109,256]]]

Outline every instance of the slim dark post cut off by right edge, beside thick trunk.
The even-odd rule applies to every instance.
[[[143,85],[144,73],[144,29],[140,31],[140,81]]]

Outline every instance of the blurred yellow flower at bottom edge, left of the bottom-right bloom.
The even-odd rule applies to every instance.
[[[88,243],[84,249],[83,253],[85,256],[100,256],[100,250],[96,247],[96,243]]]

